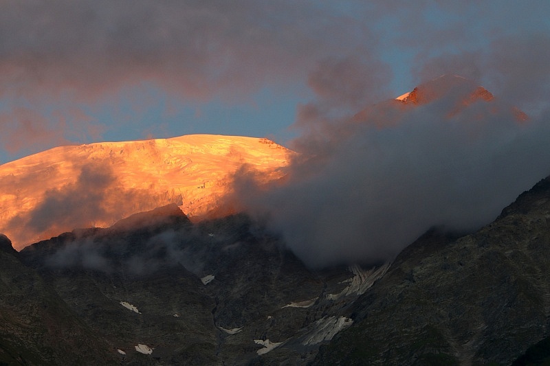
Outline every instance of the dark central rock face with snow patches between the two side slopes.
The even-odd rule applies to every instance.
[[[192,224],[175,206],[19,255],[111,356],[137,365],[311,361],[353,323],[350,304],[387,269],[316,273],[248,216]]]

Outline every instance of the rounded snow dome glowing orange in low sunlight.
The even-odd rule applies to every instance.
[[[52,148],[0,165],[0,232],[19,250],[168,203],[207,214],[243,165],[280,179],[293,153],[269,139],[223,135]]]

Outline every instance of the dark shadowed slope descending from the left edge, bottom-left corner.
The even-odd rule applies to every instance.
[[[117,365],[100,339],[0,235],[0,365]]]

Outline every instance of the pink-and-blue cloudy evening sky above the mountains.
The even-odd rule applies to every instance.
[[[314,119],[351,115],[442,73],[528,112],[547,108],[544,0],[1,7],[0,163],[65,144],[191,133],[292,145],[307,106]]]

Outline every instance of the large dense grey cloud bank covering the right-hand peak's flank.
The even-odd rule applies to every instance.
[[[261,186],[241,170],[234,204],[311,266],[391,260],[435,225],[489,223],[550,174],[549,119],[519,124],[498,98],[456,110],[472,84],[455,80],[428,104],[381,103],[305,130],[285,183]]]

